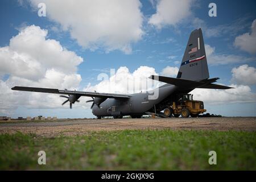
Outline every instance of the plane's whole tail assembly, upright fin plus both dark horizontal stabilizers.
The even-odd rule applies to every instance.
[[[158,80],[166,82],[167,84],[176,85],[180,89],[185,90],[193,90],[195,88],[232,88],[229,86],[212,84],[219,78],[209,79],[207,57],[205,55],[204,39],[201,28],[191,32],[176,78],[155,75],[152,75],[150,78],[152,80]]]

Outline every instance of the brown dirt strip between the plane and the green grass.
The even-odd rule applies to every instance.
[[[222,118],[141,118],[141,119],[65,119],[39,122],[0,122],[0,134],[35,133],[43,137],[82,135],[90,131],[114,130],[218,130],[256,131],[256,117]]]

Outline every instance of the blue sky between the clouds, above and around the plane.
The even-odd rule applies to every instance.
[[[217,5],[217,17],[210,17],[208,15],[208,5],[210,2],[212,1],[188,1],[190,4],[186,8],[188,8],[189,13],[184,15],[184,18],[177,22],[175,22],[175,20],[167,20],[167,22],[162,22],[162,24],[154,24],[150,23],[150,19],[152,19],[152,15],[160,11],[161,1],[140,1],[141,5],[138,7],[138,10],[142,15],[142,22],[139,27],[143,33],[134,39],[125,39],[128,42],[126,43],[129,44],[132,49],[130,52],[125,52],[122,51],[122,47],[115,47],[115,45],[119,45],[118,40],[115,40],[114,46],[111,44],[106,48],[106,46],[104,46],[107,44],[106,41],[110,42],[112,39],[105,39],[104,35],[100,37],[101,39],[99,41],[98,39],[93,40],[93,44],[97,45],[97,48],[90,44],[88,46],[88,42],[83,42],[83,37],[81,36],[80,38],[80,34],[76,34],[75,28],[78,26],[75,23],[71,22],[70,27],[66,30],[63,28],[65,22],[60,20],[60,16],[52,10],[53,8],[50,6],[53,5],[51,5],[51,3],[46,2],[47,16],[39,17],[38,9],[36,9],[35,6],[36,1],[3,0],[0,2],[0,47],[10,46],[10,39],[18,35],[19,32],[26,27],[35,25],[39,26],[42,30],[47,30],[48,34],[46,39],[56,40],[63,48],[74,52],[83,59],[82,63],[78,64],[76,67],[76,74],[81,76],[79,85],[76,86],[76,88],[82,90],[86,88],[88,84],[99,84],[100,81],[97,80],[97,75],[101,72],[109,74],[110,68],[118,70],[120,67],[127,67],[129,72],[133,73],[139,67],[146,66],[154,68],[156,73],[161,73],[167,66],[179,67],[190,32],[195,30],[195,28],[201,27],[205,44],[208,45],[210,50],[214,49],[214,52],[208,56],[210,77],[220,77],[221,79],[218,82],[221,84],[243,85],[247,86],[246,89],[250,88],[249,91],[247,90],[248,94],[244,95],[240,93],[243,92],[241,90],[238,90],[237,93],[227,94],[222,92],[210,92],[210,94],[220,94],[222,97],[229,97],[229,94],[232,94],[230,97],[241,94],[241,98],[249,98],[246,98],[245,101],[241,98],[238,98],[237,101],[226,101],[223,99],[223,101],[217,101],[216,103],[218,104],[215,103],[213,105],[210,104],[211,101],[209,100],[205,101],[205,106],[210,113],[214,114],[255,116],[256,81],[254,82],[254,78],[250,78],[252,81],[249,82],[245,79],[243,82],[237,77],[243,74],[241,71],[246,72],[249,68],[255,75],[256,55],[254,51],[246,50],[243,45],[236,43],[236,38],[244,34],[252,35],[253,29],[251,27],[256,19],[256,2],[214,1]],[[176,6],[176,4],[177,2],[174,3],[173,6]],[[177,6],[177,8],[179,8],[179,5]],[[77,8],[79,6],[74,7]],[[133,7],[133,5],[131,7]],[[59,8],[65,9],[65,5],[62,6],[60,4]],[[84,7],[85,11],[86,8],[87,7]],[[127,12],[128,10],[124,13]],[[72,13],[73,12],[71,12],[69,16],[72,16]],[[65,16],[67,17],[68,15]],[[171,15],[167,15],[167,18],[168,16],[172,18]],[[114,17],[118,17],[118,14],[114,15]],[[127,17],[127,19],[133,18],[133,16],[130,15],[125,17]],[[85,16],[84,19],[86,20],[86,18]],[[80,19],[77,20],[77,24],[80,23],[79,20]],[[81,18],[81,20],[83,19]],[[113,21],[115,21],[115,19],[113,19]],[[124,19],[124,21],[126,21],[126,19]],[[137,21],[137,19],[134,19],[134,21]],[[130,20],[130,22],[133,23],[133,19]],[[87,26],[86,23],[83,25]],[[158,27],[159,25],[160,28]],[[122,26],[122,24],[120,26]],[[112,28],[105,28],[106,31],[112,31]],[[121,30],[123,31],[125,29]],[[84,34],[86,34],[86,32],[84,32]],[[89,32],[89,34],[92,34],[92,32]],[[120,36],[125,35],[126,32],[120,33]],[[242,65],[247,65],[246,69],[242,69]],[[241,69],[237,69],[236,75],[234,75],[234,73],[232,75],[232,70],[240,67]],[[63,72],[65,73],[65,71]],[[13,76],[12,72],[1,71],[0,69],[0,78],[3,82],[6,82],[6,84],[11,76]],[[8,84],[8,86],[11,86],[10,83]],[[203,98],[207,100],[207,98]],[[6,102],[8,101],[9,100]],[[11,104],[14,104],[14,102],[10,101],[10,105]],[[61,105],[61,102],[57,104]],[[5,103],[1,103],[1,105],[5,105]],[[37,108],[35,105],[30,107],[18,103],[15,107],[9,106],[5,108],[2,106],[0,109],[2,109],[0,110],[1,115],[11,115],[12,117],[26,117],[27,115],[56,115],[59,118],[93,117],[88,107],[81,106],[69,110],[68,107],[55,108],[51,106],[51,108],[47,108],[42,106]]]

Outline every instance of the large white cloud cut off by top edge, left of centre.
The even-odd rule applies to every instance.
[[[46,3],[47,18],[69,31],[84,48],[132,51],[131,44],[143,35],[141,2],[139,0],[30,0],[37,9]]]

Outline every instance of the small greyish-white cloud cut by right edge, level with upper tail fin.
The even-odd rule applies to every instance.
[[[251,24],[251,33],[247,32],[237,36],[234,40],[234,45],[251,54],[256,53],[256,19]]]

